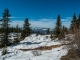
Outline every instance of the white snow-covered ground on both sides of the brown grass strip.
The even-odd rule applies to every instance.
[[[53,48],[52,50],[41,51],[40,56],[34,56],[32,50],[21,51],[19,49],[33,49],[43,46],[60,45],[61,42],[58,39],[51,41],[50,35],[38,35],[35,34],[26,37],[19,44],[9,46],[8,53],[1,56],[0,49],[0,60],[5,58],[5,60],[60,60],[61,56],[67,54],[67,50],[63,49],[64,46]]]

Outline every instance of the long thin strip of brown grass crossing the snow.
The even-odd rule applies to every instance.
[[[19,49],[22,51],[30,51],[30,50],[51,50],[52,48],[57,48],[60,47],[61,45],[52,45],[52,46],[44,46],[44,47],[38,47],[38,48],[34,48],[34,49]]]

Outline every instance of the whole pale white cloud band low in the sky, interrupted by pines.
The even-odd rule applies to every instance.
[[[66,18],[66,19],[61,19],[62,21],[62,25],[65,25],[66,27],[70,26],[71,23],[71,19],[70,18]],[[54,28],[55,27],[55,23],[56,23],[56,19],[38,19],[36,20],[29,20],[31,27],[46,27],[46,28]],[[17,24],[20,27],[23,27],[24,24],[24,20],[15,20],[12,21],[11,26],[16,26]]]

